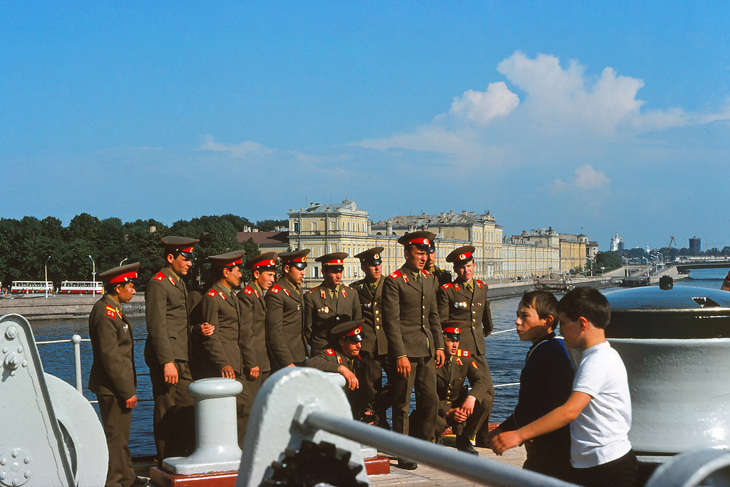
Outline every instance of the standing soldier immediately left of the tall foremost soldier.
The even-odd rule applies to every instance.
[[[388,365],[388,339],[383,329],[383,247],[374,247],[358,253],[360,268],[365,274],[361,280],[350,284],[358,291],[360,307],[365,320],[363,324],[360,356],[367,364],[364,387],[369,396],[370,407],[377,415],[376,426],[390,429],[385,412],[391,407],[387,384],[383,383],[383,369],[387,377],[393,377]]]

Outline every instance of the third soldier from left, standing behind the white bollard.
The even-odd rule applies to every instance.
[[[227,377],[238,380],[243,386],[236,398],[238,418],[238,442],[243,445],[248,417],[253,406],[253,396],[244,380],[247,375],[258,377],[258,364],[251,341],[251,329],[242,320],[242,312],[235,289],[241,282],[242,257],[245,250],[210,256],[211,273],[215,283],[203,296],[201,314],[213,326],[210,336],[203,337],[205,350],[201,360],[207,377]]]

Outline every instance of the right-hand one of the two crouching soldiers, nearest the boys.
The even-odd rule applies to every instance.
[[[439,394],[439,415],[436,418],[436,437],[441,437],[447,426],[451,426],[456,434],[456,448],[466,453],[478,455],[479,452],[469,440],[464,438],[461,430],[468,418],[481,416],[482,421],[489,415],[484,404],[487,400],[491,407],[491,397],[487,394],[487,382],[490,381],[485,370],[477,364],[472,354],[459,349],[461,321],[444,321],[441,323],[444,334],[446,361],[444,367],[436,371],[436,388]],[[467,388],[464,384],[469,379]],[[418,411],[413,415],[418,418]]]

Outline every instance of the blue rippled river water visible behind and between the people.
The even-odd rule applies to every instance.
[[[694,285],[719,289],[725,276],[726,269],[694,270],[691,272],[690,279],[677,281],[675,285]],[[492,380],[496,386],[516,383],[520,380],[520,370],[530,345],[529,342],[520,342],[514,332],[515,312],[519,301],[518,297],[513,297],[491,302],[494,333],[486,340],[486,350]],[[152,386],[150,384],[150,372],[144,360],[147,331],[144,318],[131,318],[131,324],[135,338],[134,353],[137,364],[137,398],[139,402],[132,416],[130,448],[133,456],[153,455],[155,445],[152,434]],[[72,334],[79,334],[83,338],[88,338],[88,323],[82,318],[59,321],[31,321],[31,326],[37,341],[70,339]],[[61,377],[61,379],[74,385],[74,354],[71,343],[69,342],[67,345],[39,345],[38,348],[45,372]],[[88,399],[96,399],[86,389],[92,360],[91,344],[89,342],[82,342],[81,354],[84,396]],[[503,421],[510,415],[517,402],[517,394],[518,386],[496,388],[491,422]],[[96,408],[96,404],[94,406]],[[98,408],[96,410],[98,413]]]

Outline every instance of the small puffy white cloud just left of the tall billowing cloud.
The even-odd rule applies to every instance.
[[[486,125],[497,117],[506,117],[520,104],[520,98],[507,88],[504,82],[489,83],[487,91],[468,90],[456,96],[449,112],[460,115],[480,125]]]

